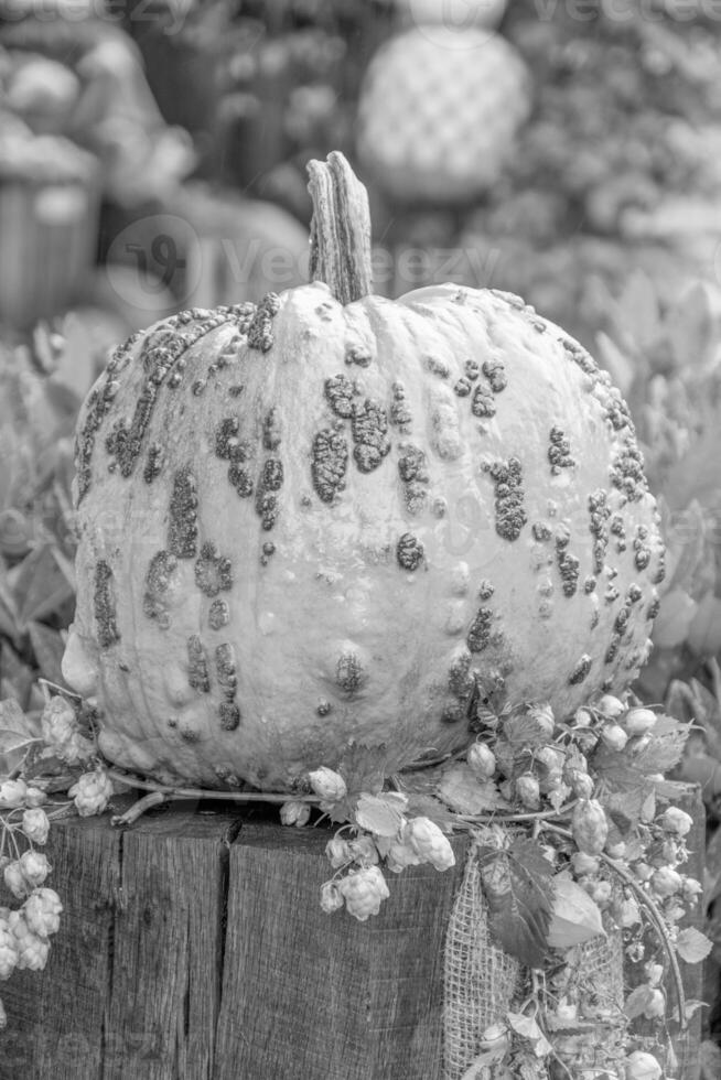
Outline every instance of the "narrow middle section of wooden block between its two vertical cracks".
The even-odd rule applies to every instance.
[[[211,1080],[235,831],[174,811],[123,834],[103,1080]]]

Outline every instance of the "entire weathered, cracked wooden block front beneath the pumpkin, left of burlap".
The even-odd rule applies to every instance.
[[[56,823],[65,911],[46,970],[0,987],[0,1080],[438,1080],[464,841],[359,924],[320,908],[327,839],[176,808]]]

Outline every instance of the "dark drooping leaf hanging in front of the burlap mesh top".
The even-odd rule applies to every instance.
[[[478,854],[492,937],[527,968],[542,966],[553,901],[550,863],[532,840],[518,840],[510,851],[480,847]]]

